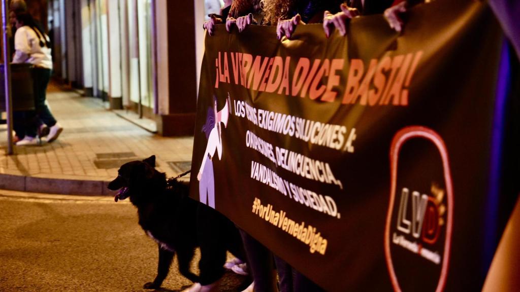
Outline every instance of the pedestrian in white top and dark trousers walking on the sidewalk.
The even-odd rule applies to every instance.
[[[36,137],[38,118],[49,127],[47,142],[58,138],[63,128],[57,123],[46,104],[46,90],[53,69],[53,60],[50,55],[50,39],[38,28],[32,16],[22,13],[16,16],[15,56],[13,63],[30,63],[34,65],[34,106],[35,111],[25,112],[25,121],[32,121],[24,125],[17,132],[23,137],[16,145],[36,145],[40,143]]]

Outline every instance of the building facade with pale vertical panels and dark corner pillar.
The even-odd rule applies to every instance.
[[[192,135],[203,55],[203,0],[47,0],[55,76],[110,109]]]

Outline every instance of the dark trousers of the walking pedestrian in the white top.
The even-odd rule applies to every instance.
[[[14,130],[16,136],[22,139],[24,136],[36,137],[37,128],[42,124],[49,127],[56,125],[56,119],[50,113],[47,104],[47,86],[50,81],[50,69],[38,68],[33,69],[34,82],[34,111],[16,111],[14,116]]]

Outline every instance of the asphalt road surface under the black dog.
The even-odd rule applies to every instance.
[[[176,266],[159,291],[191,285]],[[151,291],[156,271],[157,245],[128,202],[0,190],[0,291]],[[227,273],[219,290],[242,280]]]

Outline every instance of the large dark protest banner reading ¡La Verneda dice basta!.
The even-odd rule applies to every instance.
[[[402,34],[219,25],[191,196],[327,290],[479,290],[520,189],[517,69],[483,2],[419,5]]]

